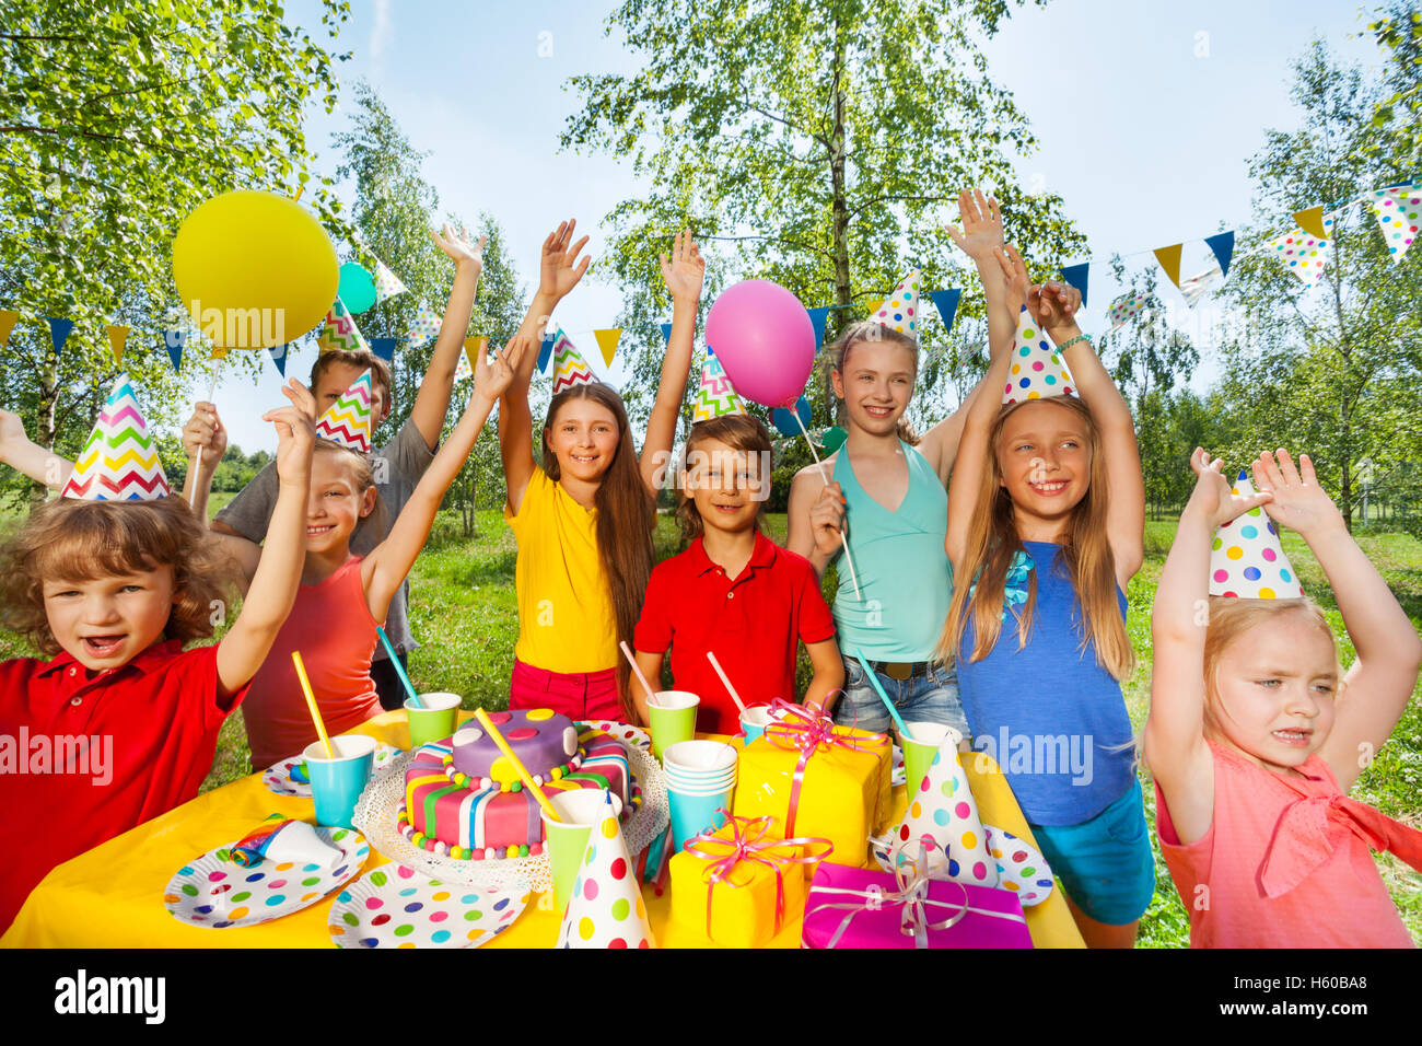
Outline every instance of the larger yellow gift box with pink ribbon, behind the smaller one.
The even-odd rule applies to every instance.
[[[781,838],[828,838],[838,864],[866,868],[869,835],[892,814],[892,760],[886,734],[778,700],[765,734],[741,751],[734,813],[772,818]]]

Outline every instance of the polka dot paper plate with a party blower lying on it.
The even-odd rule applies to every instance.
[[[164,905],[179,922],[212,929],[255,926],[309,908],[356,878],[370,857],[370,844],[354,828],[317,827],[316,835],[341,851],[331,868],[292,861],[243,868],[229,858],[229,842],[179,868],[164,889]]]

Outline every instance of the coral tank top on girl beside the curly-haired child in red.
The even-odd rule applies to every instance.
[[[253,676],[242,706],[253,770],[297,756],[317,740],[292,650],[301,652],[328,734],[346,733],[381,713],[370,677],[380,622],[365,605],[363,558],[351,556],[326,581],[297,589],[292,615]]]

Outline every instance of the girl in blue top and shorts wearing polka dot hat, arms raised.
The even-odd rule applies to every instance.
[[[998,262],[985,290],[1017,316],[1017,337],[993,343],[984,393],[1004,391],[980,396],[963,428],[939,655],[957,662],[974,747],[1001,764],[1086,944],[1129,948],[1155,894],[1121,693],[1140,455],[1130,408],[1076,327],[1079,295],[1031,287],[1015,250]]]

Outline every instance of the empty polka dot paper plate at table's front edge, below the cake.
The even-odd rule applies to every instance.
[[[529,897],[387,864],[340,892],[327,929],[337,948],[478,948],[512,926]]]

